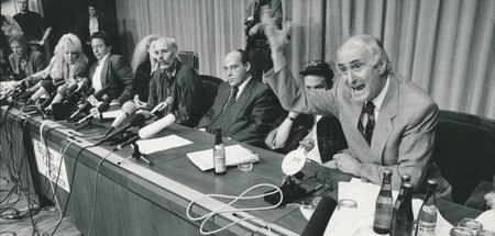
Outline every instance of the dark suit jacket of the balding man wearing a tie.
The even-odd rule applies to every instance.
[[[230,95],[230,85],[220,83],[213,105],[199,121],[199,127],[209,127]],[[273,91],[264,83],[251,79],[242,90],[235,104],[232,105],[230,116],[221,126],[222,136],[234,141],[262,146],[273,122],[280,114],[280,105]]]

